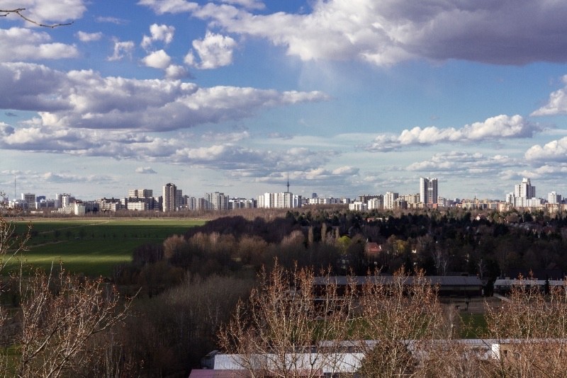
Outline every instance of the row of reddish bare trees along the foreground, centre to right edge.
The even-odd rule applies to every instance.
[[[388,285],[315,289],[312,270],[262,272],[220,332],[220,346],[252,377],[319,377],[344,352],[362,377],[565,377],[567,293],[544,294],[529,280],[489,307],[483,339],[459,338],[454,309],[444,307],[427,277],[396,273]],[[483,343],[485,343],[483,345]],[[479,348],[480,345],[480,348]],[[343,357],[341,357],[343,356]],[[343,370],[344,372],[344,370]]]

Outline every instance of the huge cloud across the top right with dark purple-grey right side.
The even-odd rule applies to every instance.
[[[252,1],[227,2],[234,5],[138,4],[158,14],[190,12],[211,27],[265,38],[304,60],[359,59],[379,65],[414,57],[492,64],[567,60],[563,1],[329,0],[314,1],[305,14],[254,13],[246,8]]]

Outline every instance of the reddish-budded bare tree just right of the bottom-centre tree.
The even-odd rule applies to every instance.
[[[365,377],[416,374],[427,366],[435,340],[447,338],[437,288],[422,272],[410,277],[401,269],[388,281],[369,276],[359,302],[356,336]]]

